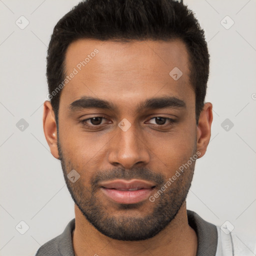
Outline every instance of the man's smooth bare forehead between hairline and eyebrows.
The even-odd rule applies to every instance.
[[[66,50],[65,75],[69,79],[60,101],[71,103],[81,96],[93,96],[134,103],[141,97],[162,95],[187,101],[191,93],[194,101],[188,64],[186,46],[178,39],[128,42],[79,39]],[[176,74],[182,75],[174,79]]]

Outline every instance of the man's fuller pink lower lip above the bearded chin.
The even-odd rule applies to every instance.
[[[150,193],[152,192],[152,188],[142,188],[134,191],[129,190],[117,190],[113,188],[105,188],[101,187],[103,193],[117,203],[129,204],[129,203],[137,203],[143,200],[146,200]]]

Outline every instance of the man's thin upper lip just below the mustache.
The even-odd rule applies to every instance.
[[[112,181],[103,181],[100,183],[101,187],[114,189],[130,189],[130,188],[152,188],[155,186],[153,182],[141,179],[115,179]]]

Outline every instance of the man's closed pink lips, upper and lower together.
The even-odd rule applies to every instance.
[[[116,179],[100,183],[101,191],[117,203],[130,204],[146,200],[155,184],[150,181]],[[131,190],[128,190],[131,189]]]

